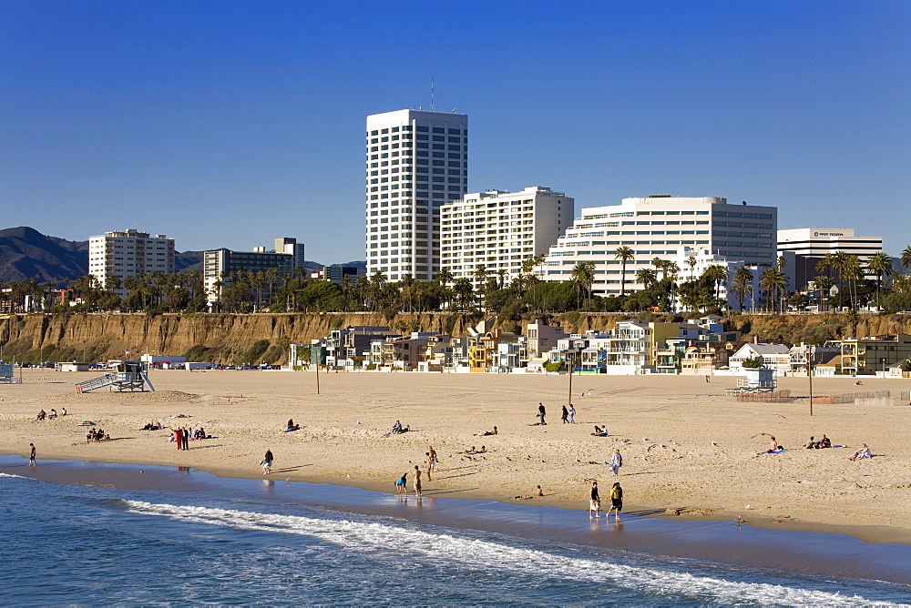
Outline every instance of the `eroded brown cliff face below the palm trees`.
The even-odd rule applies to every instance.
[[[585,315],[567,313],[548,319],[569,332],[611,329],[626,315]],[[381,314],[338,313],[323,315],[142,315],[92,314],[57,316],[15,316],[0,319],[0,344],[3,359],[13,360],[107,360],[123,359],[152,352],[159,355],[187,355],[194,360],[245,361],[257,342],[268,341],[271,362],[287,360],[287,345],[309,343],[327,336],[332,329],[349,325],[387,326],[411,322],[423,331],[443,331],[455,337],[466,335],[466,328],[479,320],[469,315],[438,313],[400,315],[387,320]],[[506,320],[495,327],[525,331],[528,318]],[[821,342],[847,338],[852,328],[844,315],[738,315],[725,322],[728,329],[739,329],[745,339],[758,336],[762,341]],[[856,334],[911,333],[911,316],[864,315]]]

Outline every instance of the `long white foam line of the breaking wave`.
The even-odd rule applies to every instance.
[[[320,519],[295,515],[210,509],[171,504],[127,501],[130,512],[166,516],[185,522],[230,526],[243,530],[304,534],[361,551],[388,551],[408,559],[446,560],[452,567],[484,568],[492,571],[565,578],[571,573],[578,582],[609,583],[672,597],[691,597],[720,603],[869,605],[859,596],[846,596],[813,589],[769,583],[741,583],[711,576],[630,566],[569,557],[509,546],[501,542],[426,532],[381,522]],[[466,562],[466,556],[471,559]]]

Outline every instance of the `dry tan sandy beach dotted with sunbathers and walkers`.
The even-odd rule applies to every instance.
[[[0,385],[0,452],[42,458],[191,466],[226,477],[272,475],[394,491],[393,482],[439,456],[425,496],[530,500],[588,509],[592,480],[602,496],[607,462],[619,449],[625,511],[668,518],[737,519],[776,529],[839,532],[866,542],[911,543],[911,408],[853,404],[738,403],[724,395],[733,378],[576,376],[576,424],[562,424],[567,376],[509,374],[313,373],[220,370],[152,372],[156,392],[78,394],[94,373],[23,370],[24,383]],[[814,380],[815,394],[892,390],[908,380]],[[806,394],[806,379],[780,387]],[[584,396],[583,396],[584,393]],[[537,421],[537,404],[548,410]],[[36,421],[38,410],[67,417]],[[188,418],[171,418],[185,415]],[[300,431],[282,432],[289,419]],[[87,443],[78,421],[95,421],[113,441]],[[389,435],[399,420],[411,428]],[[172,433],[138,431],[149,421],[203,427],[213,439],[177,451]],[[593,437],[594,425],[610,436]],[[478,431],[494,426],[496,436]],[[765,433],[765,434],[762,434]],[[844,448],[805,450],[825,433]],[[788,451],[758,455],[774,435]],[[848,461],[862,443],[875,457]],[[472,446],[484,454],[464,454]],[[525,499],[541,485],[543,498]]]

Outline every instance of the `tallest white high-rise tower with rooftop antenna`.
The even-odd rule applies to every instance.
[[[468,117],[396,110],[367,117],[367,275],[434,279],[440,206],[468,190]]]

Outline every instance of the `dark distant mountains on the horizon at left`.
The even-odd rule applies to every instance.
[[[202,251],[183,251],[174,255],[174,269],[202,269]],[[310,272],[322,269],[318,262],[305,261]],[[365,269],[363,261],[345,266]],[[35,228],[20,226],[0,230],[0,280],[17,281],[40,277],[42,281],[73,280],[88,274],[88,241],[48,237]]]

